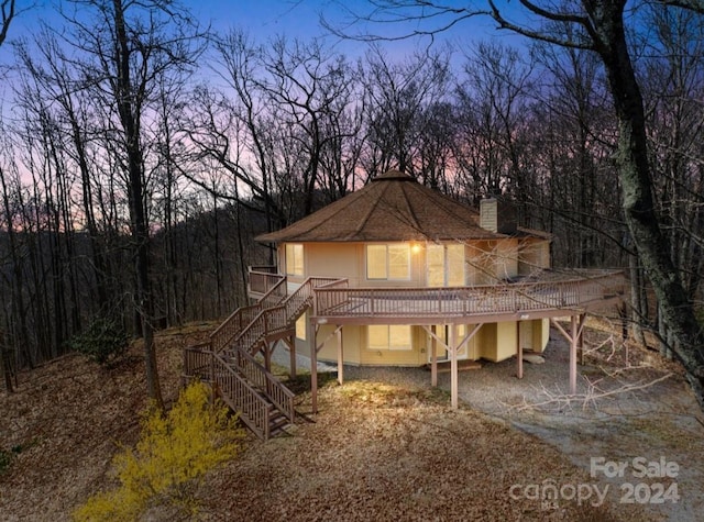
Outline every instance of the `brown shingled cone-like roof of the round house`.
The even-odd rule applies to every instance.
[[[398,170],[330,203],[262,243],[451,241],[506,237],[480,226],[479,213]]]

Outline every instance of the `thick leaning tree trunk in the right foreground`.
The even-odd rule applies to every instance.
[[[623,23],[625,0],[585,2],[596,31],[596,51],[608,78],[618,120],[617,163],[626,224],[658,307],[675,346],[673,353],[704,408],[704,333],[670,258],[670,248],[656,213],[648,164],[644,103],[632,69]],[[594,8],[594,4],[597,4]]]

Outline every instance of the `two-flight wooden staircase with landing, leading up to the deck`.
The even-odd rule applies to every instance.
[[[294,423],[294,393],[255,357],[295,332],[296,320],[311,304],[316,286],[329,279],[309,278],[288,295],[286,278],[251,307],[238,309],[207,343],[184,349],[184,382],[211,382],[222,400],[260,438],[268,440]]]

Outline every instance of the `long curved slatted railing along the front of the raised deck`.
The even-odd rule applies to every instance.
[[[623,291],[622,273],[564,280],[458,288],[349,288],[315,291],[316,316],[464,316],[579,309]]]

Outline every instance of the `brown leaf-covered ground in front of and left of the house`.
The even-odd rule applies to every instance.
[[[178,392],[183,345],[211,327],[158,336],[167,402]],[[582,502],[569,498],[571,487],[603,485],[505,420],[449,409],[447,392],[430,389],[428,374],[418,378],[422,370],[389,371],[350,371],[343,386],[328,380],[315,415],[302,391],[301,420],[289,434],[268,443],[250,436],[241,457],[202,484],[199,519],[662,520],[613,496],[603,506],[594,506],[593,491]],[[23,373],[18,392],[0,392],[0,448],[16,449],[0,476],[0,519],[69,520],[89,495],[110,487],[112,455],[138,437],[145,388],[135,346],[110,370],[70,355]],[[562,498],[531,497],[546,485],[564,486]]]

